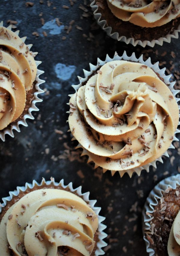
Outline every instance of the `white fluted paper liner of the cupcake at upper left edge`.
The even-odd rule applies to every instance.
[[[0,26],[3,26],[2,21],[0,22]],[[7,28],[9,30],[11,30],[11,25]],[[16,33],[16,35],[19,35],[19,30],[17,30],[14,33]],[[23,42],[25,42],[26,37],[22,37],[21,39],[22,39]],[[32,44],[27,45],[27,46],[30,49],[32,47]],[[33,52],[33,53],[35,55],[38,54],[37,52]],[[36,66],[38,67],[38,65],[41,64],[42,61],[35,61],[35,62],[36,62]],[[16,130],[17,132],[20,132],[20,128],[19,128],[20,124],[23,125],[23,126],[28,126],[28,124],[26,122],[26,119],[32,119],[32,120],[35,119],[32,115],[32,111],[39,111],[39,109],[36,107],[36,103],[43,101],[41,98],[38,98],[38,94],[44,92],[44,90],[42,90],[40,88],[40,84],[44,83],[45,81],[41,80],[39,78],[39,75],[41,75],[43,73],[44,73],[44,71],[37,69],[37,74],[36,74],[36,78],[35,78],[35,81],[37,82],[36,85],[35,85],[35,88],[36,88],[37,92],[34,93],[34,98],[35,99],[31,102],[31,107],[28,110],[28,114],[25,114],[21,120],[19,120],[16,124],[11,125],[10,128],[5,128],[3,131],[0,131],[0,139],[2,141],[5,141],[5,135],[6,134],[10,135],[13,138],[14,137],[14,131],[13,130]]]

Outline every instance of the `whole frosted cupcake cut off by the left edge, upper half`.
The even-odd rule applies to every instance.
[[[30,51],[32,45],[26,45],[26,37],[20,38],[19,31],[11,31],[11,26],[3,27],[0,23],[0,137],[12,129],[19,130],[19,124],[27,126],[26,117],[33,118],[32,110],[38,110],[35,103],[41,101],[37,95],[43,92],[39,88],[42,80],[37,77],[42,72],[37,70]],[[37,79],[36,79],[37,77]],[[32,106],[32,109],[30,107]],[[27,116],[26,116],[27,115]],[[18,123],[19,122],[19,123]]]

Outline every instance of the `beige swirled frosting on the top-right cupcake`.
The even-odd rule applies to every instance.
[[[117,18],[141,27],[159,27],[180,15],[179,0],[107,0],[107,3]]]

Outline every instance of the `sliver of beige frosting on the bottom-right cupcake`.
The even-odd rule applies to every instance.
[[[173,226],[171,227],[167,251],[169,256],[180,255],[180,211],[173,222]]]

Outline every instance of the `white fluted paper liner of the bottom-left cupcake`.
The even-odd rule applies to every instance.
[[[55,182],[54,178],[51,178],[51,180],[48,180],[48,181],[46,181],[43,178],[41,183],[38,183],[36,180],[33,180],[32,184],[26,182],[25,186],[16,187],[16,190],[9,192],[9,196],[2,198],[3,203],[0,204],[0,213],[2,211],[2,208],[4,206],[6,206],[7,202],[11,201],[11,199],[14,196],[19,195],[19,193],[21,191],[24,192],[24,191],[26,191],[26,189],[33,189],[34,186],[42,186],[44,184],[53,185],[53,186],[61,186],[64,189],[68,188],[68,189],[70,189],[71,192],[76,192],[77,195],[82,196],[84,201],[88,202],[88,204],[91,205],[91,208],[93,209],[93,211],[98,215],[98,232],[99,232],[98,239],[99,239],[99,241],[97,242],[97,249],[95,251],[95,256],[104,255],[104,251],[103,251],[102,247],[107,246],[107,243],[104,242],[103,239],[107,237],[107,234],[104,233],[103,230],[106,229],[107,226],[104,225],[102,222],[105,220],[105,217],[99,216],[99,212],[101,211],[101,207],[95,206],[97,200],[89,200],[90,192],[85,192],[85,193],[81,192],[82,186],[79,186],[78,188],[73,189],[73,183],[72,182],[70,182],[68,185],[64,185],[64,180],[63,179],[60,180],[60,182],[58,183],[58,182]]]

